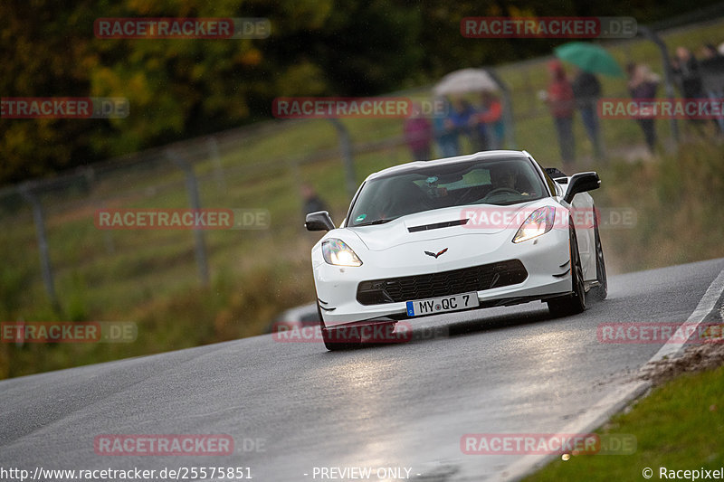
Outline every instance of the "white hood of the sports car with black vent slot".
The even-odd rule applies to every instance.
[[[455,206],[409,214],[385,224],[345,228],[345,230],[354,232],[368,250],[387,250],[405,243],[440,240],[465,234],[497,234],[505,230],[517,230],[525,215],[537,209],[538,204],[548,205],[549,202],[550,199],[511,206],[491,204]],[[523,219],[519,219],[521,217]],[[485,221],[481,222],[483,219]],[[413,232],[410,232],[411,228]],[[512,236],[512,232],[510,235]]]

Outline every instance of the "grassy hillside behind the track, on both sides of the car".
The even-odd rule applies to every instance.
[[[720,20],[680,30],[665,40],[671,48],[696,47],[718,35],[722,25]],[[649,43],[618,43],[610,50],[622,63],[648,61],[661,71],[658,52]],[[536,91],[548,82],[545,61],[501,66],[499,73],[515,99],[517,146],[544,165],[559,166],[552,122],[536,99]],[[602,80],[606,96],[625,95],[624,80]],[[428,93],[420,89],[392,95],[421,99]],[[343,122],[357,146],[402,134],[399,119]],[[612,150],[643,144],[633,121],[604,120],[602,126]],[[661,138],[669,136],[668,122],[659,121],[657,128]],[[589,156],[592,148],[580,122],[575,133],[577,152]],[[225,189],[216,184],[210,159],[195,165],[202,205],[268,209],[271,227],[205,232],[210,288],[199,288],[192,232],[100,231],[93,224],[93,213],[101,206],[188,207],[183,172],[166,160],[100,173],[90,191],[78,183],[43,194],[60,313],[43,288],[30,209],[20,203],[16,211],[0,213],[5,227],[0,230],[0,320],[119,320],[139,326],[138,341],[122,349],[0,344],[0,378],[251,336],[261,333],[278,311],[313,299],[309,252],[319,234],[303,231],[298,186],[302,181],[314,184],[334,221],[342,220],[349,197],[335,128],[327,120],[271,123],[263,135],[246,137],[238,146],[221,153]],[[464,150],[471,151],[469,143]],[[329,156],[291,167],[319,152]],[[607,167],[593,166],[604,183],[593,194],[596,203],[633,207],[639,213],[635,229],[601,233],[612,272],[724,255],[718,241],[724,237],[724,220],[717,209],[724,202],[721,158],[720,147],[694,139],[659,163],[629,164],[613,156]],[[405,146],[357,152],[357,182],[409,160]]]

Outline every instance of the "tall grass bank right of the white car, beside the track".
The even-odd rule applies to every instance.
[[[633,228],[601,230],[612,266],[638,270],[724,256],[722,158],[724,146],[700,141],[658,162],[602,170],[597,205],[637,213]]]

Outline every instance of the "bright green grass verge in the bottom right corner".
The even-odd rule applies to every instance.
[[[617,415],[599,434],[630,434],[636,439],[632,455],[577,455],[556,460],[524,480],[661,480],[659,468],[709,470],[724,467],[724,367],[686,374],[665,383]]]

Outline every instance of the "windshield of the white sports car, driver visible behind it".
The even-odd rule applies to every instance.
[[[526,203],[545,195],[545,184],[524,157],[431,163],[367,181],[354,203],[348,226],[379,224],[453,206]]]

